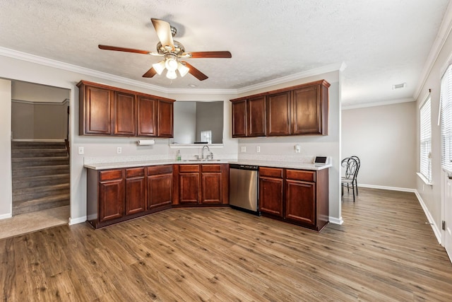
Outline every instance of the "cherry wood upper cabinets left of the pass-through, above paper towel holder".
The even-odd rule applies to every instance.
[[[172,137],[174,100],[80,81],[80,135]]]

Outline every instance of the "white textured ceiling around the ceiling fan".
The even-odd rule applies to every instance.
[[[0,47],[163,88],[243,89],[325,66],[343,72],[343,105],[407,100],[439,33],[448,0],[0,0]],[[159,57],[150,18],[177,28],[186,51],[229,50],[232,59],[187,59],[209,76],[141,76]],[[406,88],[393,90],[393,84]]]

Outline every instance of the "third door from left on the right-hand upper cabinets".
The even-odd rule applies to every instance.
[[[290,135],[290,91],[267,96],[267,135]]]

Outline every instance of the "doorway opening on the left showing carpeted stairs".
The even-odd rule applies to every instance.
[[[65,88],[11,82],[13,218],[28,215],[33,224],[42,214],[69,221],[70,93]]]

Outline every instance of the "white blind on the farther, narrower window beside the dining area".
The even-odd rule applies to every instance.
[[[432,182],[432,110],[430,97],[420,110],[420,173]]]

